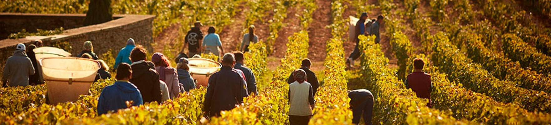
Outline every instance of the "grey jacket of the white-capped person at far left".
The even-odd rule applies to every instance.
[[[4,65],[2,81],[7,81],[9,86],[27,86],[29,85],[29,75],[33,74],[35,74],[35,70],[31,59],[27,57],[25,51],[16,50]]]

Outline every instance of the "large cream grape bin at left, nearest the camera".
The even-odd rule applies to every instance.
[[[77,101],[87,95],[100,69],[97,61],[74,57],[45,57],[40,59],[46,80],[50,104]]]

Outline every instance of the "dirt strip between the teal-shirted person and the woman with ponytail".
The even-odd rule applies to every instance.
[[[243,22],[245,22],[245,12],[249,9],[249,7],[245,6],[246,1],[242,2],[237,6],[237,9],[241,11],[237,11],[237,13],[232,17],[233,23],[230,25],[224,26],[224,29],[222,29],[222,32],[220,32],[220,39],[222,40],[222,47],[224,48],[224,52],[232,52],[239,50],[237,49],[237,46],[241,45],[241,39],[242,39],[242,30],[244,30]]]

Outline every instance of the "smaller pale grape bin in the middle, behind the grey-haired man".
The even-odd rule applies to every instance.
[[[190,74],[197,80],[199,86],[208,86],[210,75],[218,72],[222,64],[206,58],[188,58],[190,64]]]

